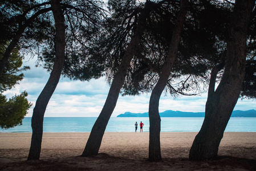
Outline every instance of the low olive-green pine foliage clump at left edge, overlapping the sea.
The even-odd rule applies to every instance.
[[[26,96],[27,92],[25,91],[7,101],[6,96],[0,94],[0,127],[2,129],[22,125],[22,119],[32,105],[27,101]]]

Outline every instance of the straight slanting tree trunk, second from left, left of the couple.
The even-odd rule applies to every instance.
[[[108,120],[110,119],[113,110],[115,109],[117,99],[119,97],[120,89],[124,84],[125,75],[127,74],[127,69],[131,63],[135,52],[139,48],[140,39],[145,30],[145,23],[147,19],[148,11],[144,9],[139,17],[137,23],[137,28],[135,35],[133,35],[131,42],[129,43],[127,50],[121,60],[119,70],[116,72],[116,75],[113,78],[113,82],[108,92],[107,99],[103,106],[103,109],[100,112],[99,117],[95,121],[94,127],[90,133],[89,139],[87,140],[86,147],[82,153],[82,156],[95,156],[99,153],[101,140],[103,138],[105,128],[107,127]]]

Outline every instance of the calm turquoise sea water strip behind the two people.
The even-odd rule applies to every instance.
[[[97,117],[45,117],[44,132],[91,132]],[[134,132],[135,121],[142,121],[143,132],[149,131],[148,117],[111,117],[106,132]],[[162,117],[161,132],[198,132],[204,117]],[[139,129],[139,128],[138,128]],[[231,117],[226,132],[256,132],[256,117]],[[23,125],[0,132],[32,132],[31,117]]]

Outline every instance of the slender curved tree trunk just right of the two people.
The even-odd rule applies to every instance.
[[[169,54],[165,59],[162,72],[159,75],[159,80],[154,87],[149,100],[149,161],[162,160],[160,148],[161,119],[159,116],[159,100],[161,93],[168,82],[170,71],[172,71],[177,56],[178,44],[180,42],[181,30],[185,21],[187,6],[188,0],[181,0],[181,9],[176,20],[176,25],[174,26],[172,40],[169,45]]]

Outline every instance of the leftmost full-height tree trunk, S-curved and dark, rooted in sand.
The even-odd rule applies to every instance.
[[[31,146],[29,151],[29,157],[27,160],[39,160],[40,150],[43,136],[43,117],[48,101],[50,100],[55,88],[59,82],[59,78],[62,72],[65,56],[65,25],[64,15],[60,7],[59,0],[51,1],[52,13],[54,14],[56,35],[55,35],[55,61],[54,66],[46,83],[43,91],[40,93],[36,100],[31,126],[32,126],[32,137]]]

